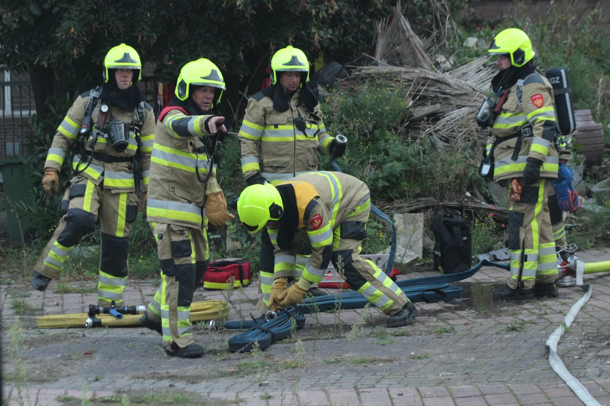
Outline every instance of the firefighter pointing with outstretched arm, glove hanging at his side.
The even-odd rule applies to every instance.
[[[177,357],[204,352],[193,338],[190,306],[210,261],[207,223],[221,226],[234,218],[215,174],[214,152],[226,134],[217,110],[225,89],[212,61],[188,62],[155,133],[146,219],[157,240],[162,282],[140,321],[159,332],[165,352]]]

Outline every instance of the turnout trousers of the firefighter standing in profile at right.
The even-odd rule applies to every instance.
[[[511,202],[508,214],[511,289],[531,289],[534,284],[549,284],[559,276],[555,240],[548,208],[553,184],[542,179],[523,186],[520,201]]]

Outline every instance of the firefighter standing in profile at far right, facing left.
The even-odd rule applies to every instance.
[[[493,298],[557,296],[557,256],[548,208],[559,166],[553,88],[537,72],[536,53],[522,30],[498,33],[488,52],[498,58],[499,72],[492,79],[497,97],[489,106],[489,117],[478,115],[477,121],[490,127],[487,153],[493,159],[493,180],[507,185],[511,196],[511,276]]]

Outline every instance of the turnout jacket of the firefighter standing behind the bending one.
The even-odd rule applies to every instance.
[[[282,113],[273,109],[273,99],[262,92],[248,100],[237,137],[246,179],[260,173],[278,184],[300,173],[317,170],[318,150],[329,154],[334,138],[326,133],[320,104],[312,111],[307,110],[300,102],[299,93],[300,90],[296,91],[290,99],[290,108]]]

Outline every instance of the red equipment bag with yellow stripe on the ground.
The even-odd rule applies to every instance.
[[[243,258],[223,258],[210,262],[203,274],[204,289],[237,289],[250,284],[250,263]]]

